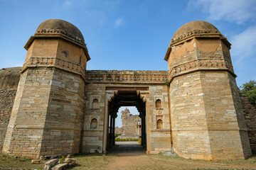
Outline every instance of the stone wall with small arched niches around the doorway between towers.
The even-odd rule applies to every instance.
[[[166,71],[133,71],[133,70],[89,70],[85,72],[87,85],[85,98],[85,126],[83,137],[83,152],[102,152],[103,130],[107,128],[106,117],[107,98],[118,89],[139,89],[147,87],[149,91],[143,91],[146,101],[146,125],[147,125],[147,152],[157,154],[171,151],[171,135],[169,120],[169,99],[166,86],[168,72]],[[110,90],[112,89],[112,90]],[[111,95],[110,95],[111,96]],[[114,97],[114,96],[113,96]],[[93,108],[92,103],[97,99],[98,108]],[[156,108],[156,100],[161,100],[161,108]],[[96,129],[90,128],[93,118],[97,119]],[[107,119],[107,120],[106,120]],[[161,119],[163,127],[157,128],[156,122]],[[106,120],[104,122],[104,120]],[[104,128],[105,127],[105,128]],[[103,152],[105,152],[103,150]]]

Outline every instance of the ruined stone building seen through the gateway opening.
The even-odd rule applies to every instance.
[[[132,115],[128,108],[121,111],[122,128],[115,128],[120,139],[139,139],[142,135],[142,120],[139,115]]]

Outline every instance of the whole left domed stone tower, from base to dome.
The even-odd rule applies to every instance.
[[[50,19],[25,48],[3,152],[31,158],[78,153],[90,60],[82,33],[67,21]]]

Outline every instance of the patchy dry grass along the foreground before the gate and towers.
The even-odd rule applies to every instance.
[[[76,154],[72,158],[77,160],[77,165],[71,169],[110,169],[110,163],[114,162],[118,157],[112,154]],[[223,161],[204,161],[195,159],[185,159],[182,157],[170,157],[164,154],[149,154],[142,156],[145,160],[143,162],[134,163],[129,165],[132,169],[155,169],[161,167],[162,169],[178,167],[185,165],[183,169],[205,169],[206,164],[211,164],[210,167],[215,169],[221,169],[220,167],[237,167],[241,169],[245,166],[256,167],[256,155],[249,159],[242,160],[223,160]],[[127,158],[126,158],[127,159]],[[147,161],[146,161],[147,160]],[[14,158],[9,157],[6,154],[0,154],[0,169],[43,169],[46,161],[42,161],[40,164],[31,164],[31,159]],[[154,162],[151,164],[151,162]],[[155,165],[154,165],[155,164]],[[176,164],[176,165],[175,165]],[[167,169],[168,169],[167,168]],[[171,168],[172,169],[172,168]]]

